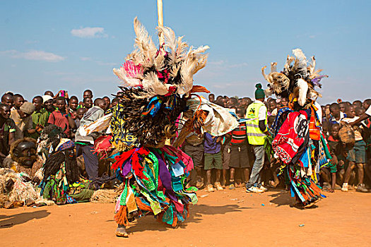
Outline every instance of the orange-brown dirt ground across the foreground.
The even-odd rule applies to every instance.
[[[317,207],[290,207],[286,191],[199,191],[177,229],[143,217],[114,236],[114,204],[0,209],[1,246],[370,246],[371,195],[325,193]],[[203,197],[203,195],[206,195]]]

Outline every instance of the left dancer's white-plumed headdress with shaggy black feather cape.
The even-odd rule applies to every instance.
[[[159,27],[165,42],[157,48],[137,18],[134,31],[136,49],[120,68],[113,69],[122,80],[123,96],[112,111],[111,126],[131,133],[141,145],[157,146],[175,133],[175,120],[190,93],[208,92],[193,85],[194,74],[206,66],[208,46],[187,49],[183,37]]]

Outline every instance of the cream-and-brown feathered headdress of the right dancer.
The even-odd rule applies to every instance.
[[[307,100],[316,100],[318,96],[321,96],[314,88],[316,86],[321,88],[319,81],[329,76],[320,75],[322,70],[315,71],[314,56],[312,56],[312,62],[308,63],[301,49],[293,49],[293,55],[287,57],[281,72],[276,72],[277,63],[271,63],[269,75],[264,72],[266,66],[261,68],[261,73],[269,83],[265,92],[267,96],[275,94],[280,97],[297,98],[300,107],[304,107]]]

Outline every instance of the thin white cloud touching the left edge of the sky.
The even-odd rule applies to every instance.
[[[31,50],[30,52],[18,52],[16,50],[8,50],[4,52],[0,52],[2,55],[7,55],[12,57],[13,59],[27,59],[27,60],[38,60],[38,61],[49,61],[49,62],[56,62],[56,61],[63,61],[63,56],[58,56],[52,52],[44,52],[44,51],[36,51]]]

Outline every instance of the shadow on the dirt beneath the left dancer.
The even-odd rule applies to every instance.
[[[211,206],[204,204],[196,204],[190,206],[189,217],[181,224],[179,228],[187,227],[189,223],[198,223],[202,221],[203,215],[225,215],[228,212],[242,212],[242,210],[250,209],[251,207],[240,207],[239,205],[222,205],[222,206]],[[130,232],[138,231],[166,231],[172,228],[163,222],[158,222],[153,219],[153,216],[148,215],[142,217],[135,222],[132,222],[129,227]]]

